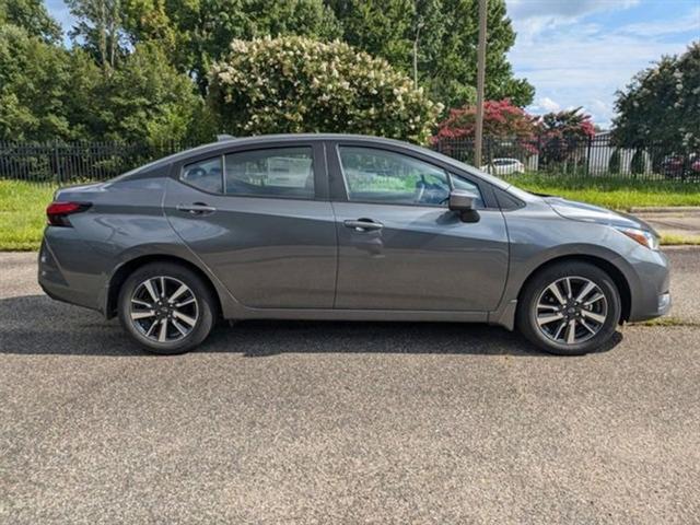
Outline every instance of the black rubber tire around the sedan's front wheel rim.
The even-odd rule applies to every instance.
[[[605,296],[605,322],[598,325],[598,331],[595,335],[592,337],[587,336],[590,339],[582,340],[581,342],[559,342],[558,340],[555,340],[551,335],[548,336],[544,334],[544,330],[540,329],[537,322],[537,303],[540,300],[541,294],[545,293],[545,290],[551,283],[565,278],[587,279],[596,284],[600,293]],[[610,276],[600,268],[588,262],[571,261],[555,264],[544,268],[533,276],[521,292],[515,320],[518,330],[533,345],[545,352],[558,355],[583,355],[585,353],[603,349],[605,345],[610,341],[610,338],[614,336],[619,323],[620,312],[620,293]],[[557,313],[557,315],[559,315],[559,313]],[[561,323],[564,322],[561,320]],[[573,327],[574,332],[576,332],[576,329],[583,331],[583,328],[576,328],[576,323],[573,323]]]

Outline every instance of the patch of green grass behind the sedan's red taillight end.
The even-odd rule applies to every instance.
[[[56,187],[0,180],[0,250],[38,249]]]

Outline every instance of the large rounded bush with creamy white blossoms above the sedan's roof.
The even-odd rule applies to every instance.
[[[209,101],[236,136],[337,131],[425,142],[442,107],[383,59],[305,37],[234,40]]]

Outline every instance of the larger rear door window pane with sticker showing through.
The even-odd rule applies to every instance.
[[[275,148],[231,153],[224,160],[226,195],[314,198],[311,148]]]

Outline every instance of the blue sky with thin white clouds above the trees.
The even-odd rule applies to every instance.
[[[47,0],[68,32],[62,0]],[[509,59],[535,86],[534,114],[582,106],[606,128],[615,92],[662,55],[700,40],[700,0],[506,0],[517,33]]]

